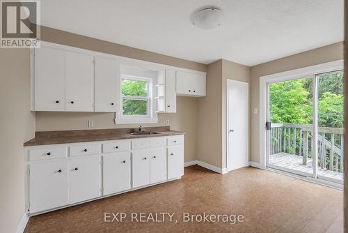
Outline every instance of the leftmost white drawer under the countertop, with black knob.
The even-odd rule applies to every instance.
[[[67,156],[66,147],[54,147],[29,150],[29,160],[46,160],[50,158],[64,158]]]

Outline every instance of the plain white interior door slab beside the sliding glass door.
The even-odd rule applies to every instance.
[[[248,165],[248,83],[227,82],[228,170]]]

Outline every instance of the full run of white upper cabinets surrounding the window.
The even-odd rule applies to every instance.
[[[205,96],[204,72],[47,42],[32,51],[33,111],[118,112],[120,64],[165,70],[157,112],[176,112],[176,96]]]

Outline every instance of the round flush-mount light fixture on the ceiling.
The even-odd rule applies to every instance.
[[[222,10],[216,7],[205,7],[191,15],[191,22],[200,29],[214,29],[221,25]]]

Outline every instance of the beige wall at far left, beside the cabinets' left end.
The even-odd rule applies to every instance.
[[[23,142],[33,137],[29,50],[0,50],[0,232],[15,232],[25,213]]]

